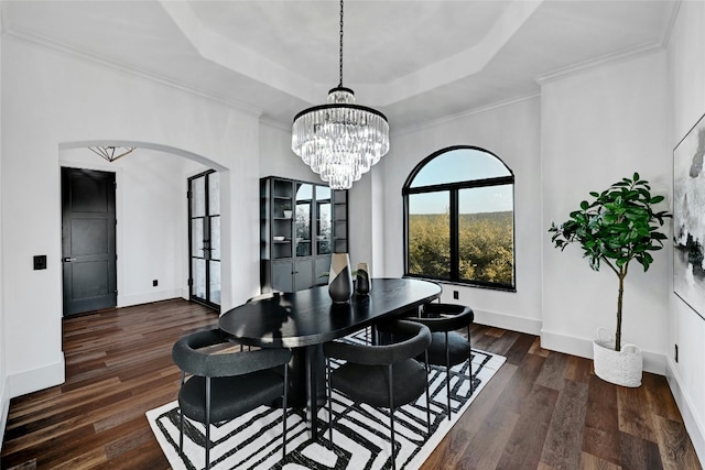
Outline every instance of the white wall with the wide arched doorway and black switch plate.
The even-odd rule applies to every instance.
[[[259,287],[258,116],[11,36],[1,58],[1,214],[14,228],[1,250],[11,396],[64,380],[59,146],[123,140],[213,162],[221,170],[223,307]],[[32,270],[35,254],[47,255],[47,270]]]

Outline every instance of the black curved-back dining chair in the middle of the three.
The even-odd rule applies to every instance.
[[[397,468],[394,450],[394,409],[414,402],[426,392],[429,404],[429,367],[414,358],[431,345],[427,327],[405,320],[378,324],[377,329],[391,338],[387,345],[357,345],[330,341],[323,345],[326,358],[328,389],[328,438],[333,445],[333,390],[347,395],[355,403],[367,403],[390,411],[390,441],[392,468]],[[345,361],[333,370],[330,361]],[[431,435],[431,412],[426,406],[426,433]]]

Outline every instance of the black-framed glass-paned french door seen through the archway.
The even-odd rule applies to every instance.
[[[188,178],[189,297],[220,307],[220,176],[208,171]]]

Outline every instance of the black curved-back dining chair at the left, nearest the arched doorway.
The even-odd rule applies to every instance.
[[[210,468],[210,424],[234,419],[270,404],[282,402],[282,455],[286,455],[286,398],[291,351],[272,348],[256,351],[217,350],[229,342],[220,330],[197,331],[181,338],[172,358],[182,370],[178,391],[178,451],[183,458],[184,416],[206,429],[206,469]],[[216,348],[212,348],[216,347]],[[283,367],[283,376],[276,368]],[[186,374],[192,374],[186,379]]]

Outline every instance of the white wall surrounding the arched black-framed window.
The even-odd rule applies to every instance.
[[[453,291],[458,291],[459,303],[473,307],[476,321],[538,335],[541,328],[540,253],[544,241],[540,226],[540,100],[534,97],[394,134],[390,153],[372,168],[382,173],[381,177],[366,175],[362,178],[371,178],[372,190],[382,194],[384,200],[383,208],[378,208],[380,205],[376,201],[369,205],[372,210],[382,211],[384,221],[382,265],[377,261],[373,275],[403,274],[401,189],[411,171],[441,149],[480,146],[499,156],[514,174],[517,292],[445,285],[442,300],[453,303]],[[373,232],[375,228],[370,230]]]

